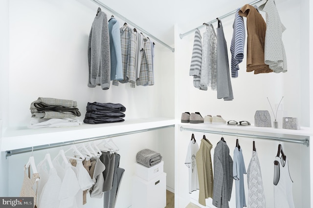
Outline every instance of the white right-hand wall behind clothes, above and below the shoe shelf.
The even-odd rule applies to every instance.
[[[303,54],[304,51],[309,51],[308,44],[305,40],[308,40],[308,35],[302,33],[307,31],[309,12],[309,1],[297,1],[297,0],[276,0],[277,9],[280,14],[282,23],[286,26],[287,30],[283,33],[283,42],[287,54],[288,72],[287,73],[268,73],[258,74],[246,72],[246,57],[243,62],[239,64],[239,77],[232,79],[232,88],[234,93],[233,101],[218,100],[216,91],[208,90],[201,91],[193,86],[192,77],[189,76],[189,67],[192,54],[193,38],[194,34],[185,36],[182,40],[179,38],[179,33],[182,31],[182,26],[177,25],[175,30],[175,68],[177,73],[176,84],[176,119],[180,119],[182,112],[200,112],[204,117],[205,115],[222,115],[226,120],[235,121],[249,121],[254,123],[254,114],[256,110],[268,110],[270,112],[272,121],[273,114],[271,113],[270,106],[268,104],[267,97],[274,107],[279,103],[282,96],[283,110],[286,111],[285,116],[297,117],[300,119],[303,126],[310,126],[309,112],[310,105],[307,101],[310,98],[309,88],[309,72],[303,70],[303,66],[308,67],[308,56]],[[305,8],[306,7],[306,8]],[[291,14],[301,13],[302,16],[291,16]],[[227,11],[221,11],[220,16],[224,15]],[[261,12],[262,15],[265,14]],[[193,19],[192,21],[204,22],[208,20]],[[224,35],[227,42],[228,57],[230,63],[230,42],[232,38],[232,24],[234,17],[228,17],[223,19]],[[246,24],[246,18],[244,18]],[[302,23],[303,21],[303,23]],[[200,25],[200,24],[199,24]],[[217,24],[213,24],[217,27]],[[201,30],[201,34],[204,29]],[[305,52],[304,52],[305,53]],[[246,54],[246,48],[245,48]],[[304,55],[304,56],[302,56]],[[303,104],[303,102],[306,102]],[[282,116],[282,115],[281,115]],[[277,118],[280,126],[282,123],[281,118]],[[184,158],[188,141],[192,132],[178,132],[176,135],[176,157],[178,165],[176,166],[176,174],[178,177],[178,184],[176,186],[176,193],[178,194],[177,205],[179,208],[186,206],[190,200],[193,202],[198,201],[199,192],[188,194],[188,184],[182,183],[182,181],[188,180],[188,170],[184,166]],[[202,135],[201,133],[195,133],[196,139],[200,145]],[[208,138],[213,144],[211,154],[214,153],[214,148],[217,142],[220,140],[221,135],[207,134]],[[227,141],[227,145],[230,148],[230,155],[233,156],[233,149],[235,146],[236,137],[224,136]],[[252,139],[239,138],[240,145],[244,151],[244,160],[246,168],[251,158]],[[277,154],[277,145],[279,143],[273,141],[256,140],[257,152],[260,159],[262,168],[262,176],[266,192],[267,207],[273,207],[273,160]],[[284,152],[289,158],[290,162],[290,174],[293,180],[293,198],[297,207],[310,207],[310,185],[308,180],[310,178],[310,148],[302,145],[282,143]],[[246,199],[247,199],[247,187]],[[235,207],[233,189],[233,197],[230,201],[230,207]],[[207,201],[207,205],[210,206],[210,200]]]

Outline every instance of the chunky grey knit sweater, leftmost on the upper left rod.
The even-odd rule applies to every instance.
[[[89,80],[88,86],[101,85],[102,89],[110,88],[110,41],[108,17],[99,12],[92,22],[88,42]]]

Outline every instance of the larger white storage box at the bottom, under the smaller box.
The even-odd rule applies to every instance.
[[[133,177],[132,208],[166,207],[166,173],[151,181]]]

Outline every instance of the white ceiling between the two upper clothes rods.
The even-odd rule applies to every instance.
[[[187,32],[243,6],[244,0],[100,0],[159,40],[174,45],[174,24]],[[95,4],[93,2],[93,4]],[[110,14],[110,12],[108,13]]]

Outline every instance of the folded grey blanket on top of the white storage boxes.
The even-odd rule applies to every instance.
[[[136,155],[137,163],[144,165],[146,167],[155,166],[162,161],[162,156],[151,149],[143,149],[139,151]]]

